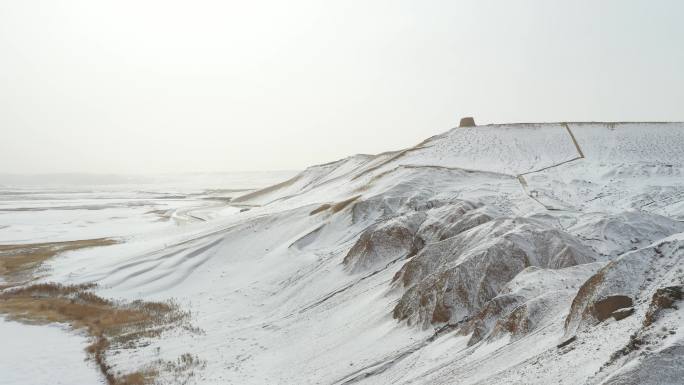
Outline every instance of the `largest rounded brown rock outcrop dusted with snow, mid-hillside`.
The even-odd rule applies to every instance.
[[[593,262],[595,253],[540,222],[497,219],[428,244],[395,276],[405,288],[394,317],[427,327],[434,319],[474,315],[528,266],[562,268]],[[434,312],[439,309],[439,315]]]

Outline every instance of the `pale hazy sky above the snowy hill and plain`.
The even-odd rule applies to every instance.
[[[0,0],[0,173],[301,169],[684,120],[684,1]]]

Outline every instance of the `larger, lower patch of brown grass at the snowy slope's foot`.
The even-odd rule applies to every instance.
[[[172,302],[126,303],[107,300],[88,291],[93,286],[44,283],[8,289],[0,293],[0,313],[17,321],[67,323],[74,329],[87,331],[93,342],[86,351],[109,385],[154,383],[159,374],[155,368],[115,374],[107,364],[107,352],[136,347],[143,338],[158,337],[163,331],[174,327],[189,328],[189,314],[180,311]],[[188,366],[187,361],[184,355],[178,364],[170,362],[157,365],[180,371]]]

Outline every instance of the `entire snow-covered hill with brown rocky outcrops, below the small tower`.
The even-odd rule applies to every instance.
[[[684,124],[455,128],[54,260],[50,280],[175,298],[198,384],[681,384]],[[97,258],[95,257],[97,255]],[[168,378],[167,378],[168,379]]]

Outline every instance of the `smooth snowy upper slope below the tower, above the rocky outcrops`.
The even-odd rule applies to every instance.
[[[264,204],[335,181],[363,186],[399,167],[460,168],[518,176],[575,162],[615,169],[650,165],[665,169],[659,172],[662,174],[681,168],[683,149],[684,123],[520,123],[454,128],[401,151],[312,166],[281,188],[238,201]]]

